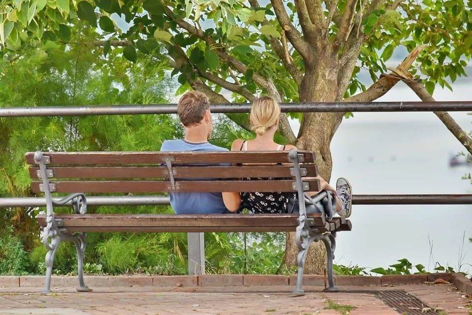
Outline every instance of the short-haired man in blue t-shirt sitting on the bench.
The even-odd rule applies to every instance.
[[[185,128],[184,139],[166,140],[161,151],[228,151],[208,143],[213,130],[210,102],[207,95],[197,91],[187,92],[180,97],[177,114]],[[176,214],[205,214],[236,212],[239,209],[239,198],[226,198],[222,194],[238,194],[238,192],[173,192],[169,193],[171,206]]]

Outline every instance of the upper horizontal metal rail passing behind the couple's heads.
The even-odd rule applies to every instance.
[[[250,103],[213,104],[213,113],[248,113]],[[432,112],[472,111],[472,101],[442,102],[372,102],[372,103],[280,103],[282,112]],[[0,117],[86,116],[175,114],[177,104],[162,105],[99,105],[99,106],[37,106],[0,108]]]

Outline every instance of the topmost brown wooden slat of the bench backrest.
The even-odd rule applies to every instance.
[[[313,152],[300,151],[305,163],[314,163]],[[195,163],[286,163],[288,153],[282,151],[258,152],[45,152],[50,165],[120,165],[157,164],[173,158],[176,164]],[[26,154],[26,161],[34,163],[34,152]]]

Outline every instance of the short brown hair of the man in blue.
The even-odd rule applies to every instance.
[[[186,92],[177,104],[177,114],[183,126],[189,127],[200,123],[205,111],[210,109],[207,95],[198,91]]]

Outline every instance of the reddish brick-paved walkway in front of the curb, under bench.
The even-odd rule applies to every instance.
[[[450,284],[346,286],[341,293],[323,293],[320,287],[307,286],[304,296],[294,296],[290,293],[292,289],[290,286],[120,287],[81,293],[74,288],[56,288],[56,293],[41,294],[38,293],[41,288],[0,288],[0,315],[399,314],[375,296],[379,290],[405,290],[449,315],[470,314],[468,305],[472,303],[471,297]]]

